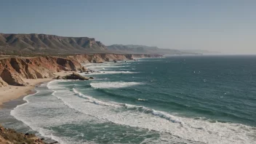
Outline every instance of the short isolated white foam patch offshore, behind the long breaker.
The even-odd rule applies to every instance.
[[[122,88],[131,87],[135,85],[143,84],[141,82],[92,82],[90,85],[96,89],[112,89],[112,88]]]

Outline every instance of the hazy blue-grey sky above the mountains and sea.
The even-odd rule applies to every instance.
[[[256,54],[256,0],[1,0],[0,33]]]

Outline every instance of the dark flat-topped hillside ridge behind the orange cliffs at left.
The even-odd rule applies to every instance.
[[[107,47],[104,44],[88,37],[0,33],[0,52],[7,54],[70,54],[105,51]]]

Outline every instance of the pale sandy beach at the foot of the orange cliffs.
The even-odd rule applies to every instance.
[[[73,73],[72,71],[63,71],[54,73],[55,76],[65,76],[68,74]],[[0,107],[3,103],[8,102],[9,100],[15,100],[19,97],[29,95],[32,90],[36,87],[37,84],[41,84],[44,82],[52,81],[53,78],[49,79],[23,79],[28,86],[7,86],[7,87],[0,87]]]

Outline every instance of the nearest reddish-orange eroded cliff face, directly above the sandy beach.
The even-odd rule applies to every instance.
[[[23,79],[44,79],[59,71],[77,71],[76,60],[61,57],[15,57],[0,60],[0,76],[10,85],[26,85]]]

